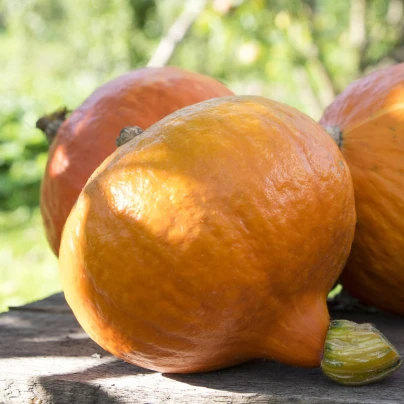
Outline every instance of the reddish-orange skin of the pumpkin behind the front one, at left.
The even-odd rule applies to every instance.
[[[93,171],[116,150],[124,126],[148,128],[168,114],[232,95],[224,84],[176,67],[144,68],[98,88],[59,128],[41,187],[46,235],[58,255],[63,226]]]

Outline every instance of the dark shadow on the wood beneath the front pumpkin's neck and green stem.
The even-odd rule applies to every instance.
[[[165,378],[190,386],[257,395],[257,402],[365,402],[364,397],[385,402],[386,391],[399,397],[402,380],[392,375],[377,384],[346,388],[332,382],[319,368],[303,369],[267,360],[254,360],[236,367],[197,375],[164,374]],[[214,397],[212,392],[212,398]],[[220,393],[218,393],[220,395]],[[261,401],[264,400],[265,401]],[[247,402],[247,401],[246,401]],[[249,401],[248,401],[249,402]],[[253,400],[251,402],[254,402]],[[366,401],[368,402],[368,401]],[[372,401],[373,402],[373,401]]]

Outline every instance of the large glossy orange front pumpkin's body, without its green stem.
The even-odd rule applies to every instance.
[[[104,161],[66,222],[59,268],[81,326],[127,362],[316,367],[354,226],[349,169],[318,124],[263,97],[224,97]]]

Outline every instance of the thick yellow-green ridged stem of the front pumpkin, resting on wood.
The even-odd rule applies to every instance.
[[[359,386],[376,382],[400,368],[394,346],[372,324],[331,321],[321,369],[337,383]]]

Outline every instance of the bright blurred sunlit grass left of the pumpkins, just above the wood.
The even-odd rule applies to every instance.
[[[61,290],[39,209],[0,213],[0,312]]]

